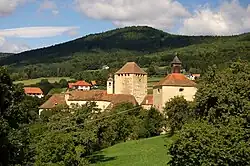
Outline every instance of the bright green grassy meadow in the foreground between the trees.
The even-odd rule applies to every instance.
[[[92,166],[166,166],[171,143],[172,139],[166,136],[120,143],[92,156]]]

